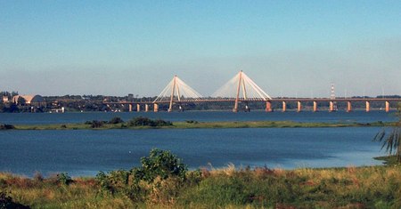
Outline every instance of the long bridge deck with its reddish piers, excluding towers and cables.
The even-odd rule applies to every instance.
[[[190,100],[174,100],[174,103],[203,103],[203,102],[230,102],[235,101],[235,98],[205,98],[205,99],[190,99]],[[272,102],[282,102],[282,111],[287,110],[287,102],[297,102],[297,111],[302,110],[302,102],[313,102],[313,111],[317,111],[317,102],[329,102],[329,111],[334,111],[336,109],[335,105],[336,102],[347,102],[347,111],[352,110],[352,102],[356,101],[363,101],[365,102],[365,109],[366,112],[370,111],[370,103],[371,102],[384,102],[385,103],[385,111],[389,112],[389,102],[396,101],[401,102],[401,98],[273,98],[271,100],[263,100],[263,99],[250,99],[244,100],[239,99],[238,101],[246,102],[246,101],[263,101],[266,102],[266,111],[271,112],[273,111]],[[136,111],[141,110],[141,105],[145,105],[145,111],[149,110],[149,105],[153,104],[153,111],[159,111],[159,104],[160,103],[170,103],[170,100],[162,100],[162,101],[104,101],[103,104],[110,105],[110,104],[120,104],[120,105],[128,105],[129,111],[133,110],[133,105],[136,104]],[[180,106],[181,108],[181,106]],[[246,107],[248,109],[248,107]],[[172,109],[168,109],[168,111],[172,111]],[[233,109],[234,112],[238,111],[238,109]]]

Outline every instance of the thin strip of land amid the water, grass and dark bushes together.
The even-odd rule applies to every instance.
[[[323,127],[367,127],[367,126],[394,126],[396,123],[302,123],[294,121],[227,121],[227,122],[198,122],[188,120],[184,122],[170,122],[152,120],[147,117],[135,117],[124,122],[119,117],[110,121],[86,121],[85,124],[64,125],[13,125],[16,130],[82,130],[82,129],[189,129],[189,128],[323,128]],[[0,128],[1,129],[1,128]]]

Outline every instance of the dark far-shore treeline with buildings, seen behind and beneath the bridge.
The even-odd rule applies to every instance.
[[[32,106],[27,104],[23,100],[20,100],[18,104],[12,101],[18,92],[0,92],[0,113],[17,113],[17,112],[51,112],[63,108],[67,112],[91,112],[91,111],[129,111],[129,107],[121,106],[119,104],[103,104],[103,101],[108,102],[141,102],[148,101],[151,102],[156,99],[156,97],[139,97],[132,93],[127,96],[104,96],[104,95],[64,95],[64,96],[42,96],[45,105]],[[350,98],[363,98],[361,96],[354,96]],[[372,98],[372,97],[365,97]],[[400,95],[378,95],[376,98],[401,98]],[[266,104],[264,102],[249,101],[248,105],[250,109],[266,109]],[[272,109],[281,109],[282,104],[273,103]],[[312,107],[313,102],[305,102],[303,104],[305,107]],[[353,102],[353,109],[364,109],[365,103],[363,101]],[[183,103],[181,104],[184,110],[231,110],[233,109],[232,102],[207,102],[207,103]],[[344,102],[339,102],[337,104],[338,109],[346,109],[347,104]],[[397,104],[391,102],[390,107],[396,107]],[[319,102],[319,109],[328,109],[328,102]],[[296,109],[297,104],[289,102],[287,104],[287,109]],[[374,102],[371,104],[371,109],[381,109],[383,104]],[[160,111],[167,110],[168,104],[160,104]]]

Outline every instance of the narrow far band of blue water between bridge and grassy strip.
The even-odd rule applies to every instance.
[[[376,121],[395,121],[392,114],[384,111],[353,111],[350,113],[344,111],[337,112],[271,112],[252,111],[250,113],[229,111],[186,111],[186,112],[123,112],[123,113],[14,113],[0,114],[0,124],[69,124],[85,123],[88,120],[110,120],[112,117],[121,117],[127,121],[133,117],[151,117],[153,119],[164,119],[170,121],[260,121],[260,120],[291,120],[299,122],[376,122]]]

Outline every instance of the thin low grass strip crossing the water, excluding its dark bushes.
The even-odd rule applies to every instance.
[[[14,125],[15,130],[108,130],[108,129],[192,129],[192,128],[320,128],[320,127],[366,127],[366,126],[391,126],[393,123],[302,123],[294,121],[244,121],[244,122],[174,122],[166,126],[129,126],[125,123],[104,124],[102,127],[93,128],[86,124],[63,125]]]

